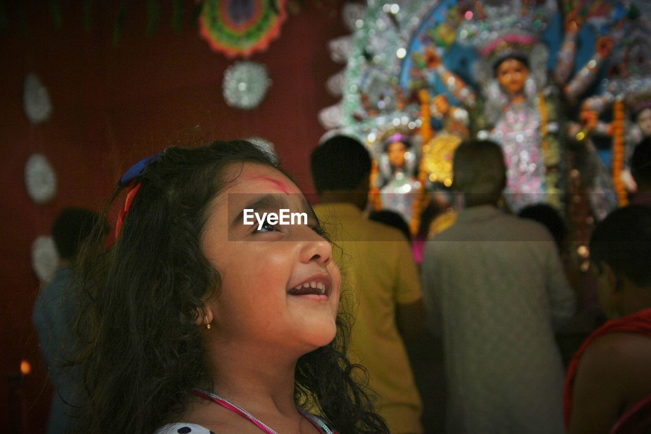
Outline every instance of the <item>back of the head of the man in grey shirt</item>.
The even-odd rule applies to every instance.
[[[501,147],[490,140],[464,141],[454,152],[452,188],[464,194],[466,205],[495,203],[506,186]]]

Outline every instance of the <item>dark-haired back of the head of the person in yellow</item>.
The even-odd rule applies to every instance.
[[[310,156],[316,192],[345,192],[358,188],[370,173],[371,159],[359,141],[334,136],[316,147]]]

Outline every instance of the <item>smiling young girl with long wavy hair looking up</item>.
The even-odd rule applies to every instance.
[[[83,262],[80,431],[388,432],[345,356],[331,245],[270,156],[171,147],[118,185],[115,244],[102,253],[98,236]],[[245,212],[281,209],[307,224]]]

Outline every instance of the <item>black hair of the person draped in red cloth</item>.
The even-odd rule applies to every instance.
[[[629,205],[609,214],[590,238],[590,260],[603,261],[635,285],[651,287],[651,207]]]

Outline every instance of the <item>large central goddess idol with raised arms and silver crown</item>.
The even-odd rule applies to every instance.
[[[447,91],[470,113],[472,134],[499,143],[506,158],[508,205],[518,211],[546,202],[563,209],[565,188],[563,149],[559,141],[559,100],[562,92],[572,102],[589,88],[610,50],[610,38],[600,37],[592,57],[572,75],[577,35],[585,17],[568,14],[564,39],[548,83],[548,57],[542,42],[551,9],[513,5],[478,8],[477,20],[460,25],[458,41],[475,48],[475,94],[440,61],[439,50],[428,48],[428,67],[446,83]],[[479,13],[480,12],[480,13]],[[571,77],[570,77],[571,76]]]

